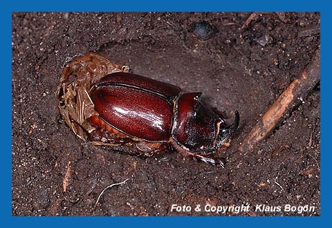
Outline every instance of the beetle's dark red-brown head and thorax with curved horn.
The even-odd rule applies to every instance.
[[[239,126],[239,112],[234,123],[223,128],[223,120],[200,102],[201,93],[183,93],[176,103],[172,137],[191,153],[219,149]]]

